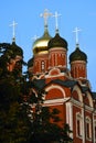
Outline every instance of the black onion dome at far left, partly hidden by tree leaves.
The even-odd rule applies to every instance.
[[[15,42],[12,42],[11,48],[15,55],[23,56],[23,51],[20,46],[15,44]]]

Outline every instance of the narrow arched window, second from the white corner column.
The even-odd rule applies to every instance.
[[[86,118],[86,139],[92,139],[92,121],[89,117]]]

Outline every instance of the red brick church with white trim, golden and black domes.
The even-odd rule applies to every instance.
[[[87,79],[87,55],[76,47],[71,53],[67,68],[67,42],[56,26],[55,36],[44,34],[33,43],[33,57],[28,62],[30,80],[47,94],[44,105],[57,108],[60,125],[68,123],[74,143],[96,143],[96,94]]]

